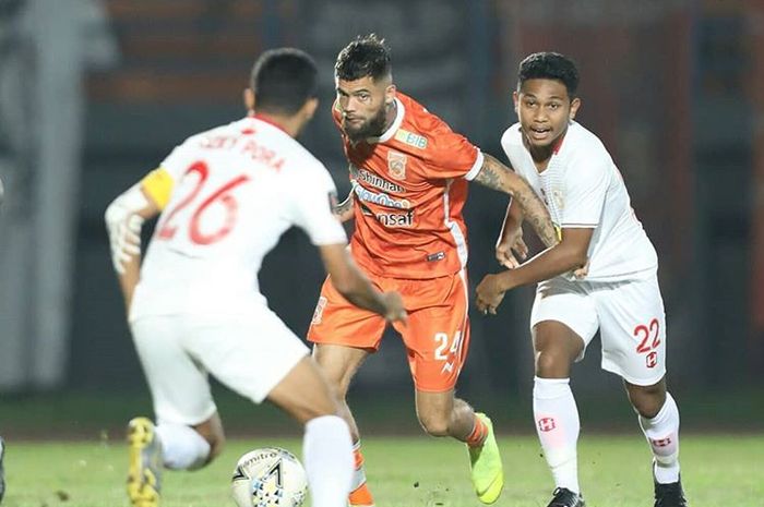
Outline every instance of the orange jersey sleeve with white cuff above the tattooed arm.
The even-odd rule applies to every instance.
[[[428,132],[422,176],[428,179],[466,178],[471,180],[482,167],[482,152],[464,135],[439,121]]]

